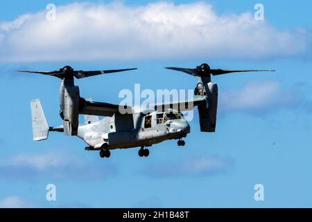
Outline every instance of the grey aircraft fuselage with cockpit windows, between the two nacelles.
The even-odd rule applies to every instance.
[[[91,150],[100,150],[103,146],[106,149],[152,146],[167,139],[181,139],[190,133],[189,123],[180,112],[129,114],[132,122],[122,118],[119,121],[118,116],[106,117],[96,123],[79,126],[78,137]]]

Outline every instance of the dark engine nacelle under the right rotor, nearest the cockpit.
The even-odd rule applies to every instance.
[[[207,104],[198,105],[200,117],[200,131],[216,131],[216,114],[218,108],[218,85],[216,83],[207,83],[205,87]]]

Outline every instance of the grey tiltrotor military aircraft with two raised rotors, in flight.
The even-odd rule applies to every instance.
[[[136,68],[135,68],[136,69]],[[134,107],[121,107],[110,103],[86,101],[80,97],[79,87],[74,85],[75,78],[86,78],[101,74],[134,69],[116,69],[102,71],[75,71],[65,66],[59,71],[21,71],[44,74],[60,78],[60,117],[62,126],[49,127],[42,105],[39,100],[31,101],[33,123],[33,139],[47,139],[49,132],[64,132],[65,135],[77,136],[88,146],[87,151],[100,151],[101,157],[110,157],[110,150],[116,148],[139,149],[140,157],[149,155],[148,146],[164,142],[168,139],[178,139],[177,145],[184,146],[182,138],[190,133],[189,123],[184,119],[183,111],[193,110],[198,106],[200,131],[215,132],[218,105],[218,86],[211,83],[211,75],[229,74],[244,71],[274,71],[274,70],[224,70],[210,69],[206,63],[195,69],[166,67],[196,76],[197,85],[192,99],[172,101],[153,105],[148,112],[137,111]],[[120,110],[130,110],[121,114]],[[85,124],[79,124],[79,114],[85,114]],[[105,117],[99,119],[98,116]]]

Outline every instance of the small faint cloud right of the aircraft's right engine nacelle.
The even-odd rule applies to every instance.
[[[247,83],[241,89],[229,89],[220,94],[221,112],[267,112],[294,106],[296,102],[294,90],[282,89],[279,81]]]

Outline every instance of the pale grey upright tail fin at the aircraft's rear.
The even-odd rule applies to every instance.
[[[48,139],[49,125],[39,99],[31,101],[31,118],[33,121],[33,140]]]

